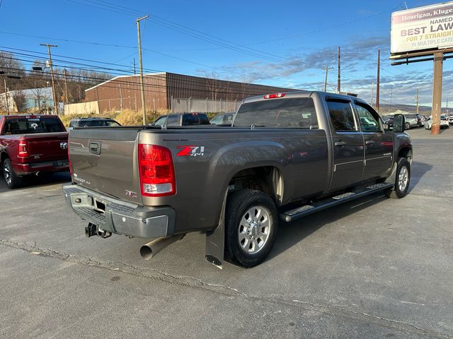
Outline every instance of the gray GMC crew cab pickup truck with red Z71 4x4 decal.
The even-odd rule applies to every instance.
[[[233,126],[108,127],[69,135],[71,208],[88,237],[154,238],[151,258],[188,232],[206,258],[244,267],[290,222],[377,191],[408,193],[412,145],[357,97],[297,91],[246,99]]]

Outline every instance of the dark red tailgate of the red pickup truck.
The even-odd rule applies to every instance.
[[[38,133],[25,134],[30,153],[30,162],[43,160],[66,159],[68,156],[67,145],[68,133]]]

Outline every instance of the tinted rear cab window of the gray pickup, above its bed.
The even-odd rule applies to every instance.
[[[318,129],[318,118],[311,97],[260,100],[239,107],[234,126]]]

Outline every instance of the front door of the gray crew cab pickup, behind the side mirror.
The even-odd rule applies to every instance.
[[[355,102],[360,129],[365,139],[363,179],[382,178],[391,167],[394,139],[384,133],[379,114],[364,102]]]

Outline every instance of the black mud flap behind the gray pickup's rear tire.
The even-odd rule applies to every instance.
[[[226,196],[224,197],[224,203],[222,204],[222,213],[220,213],[219,225],[213,231],[206,233],[206,249],[205,258],[210,263],[222,269],[224,263],[224,251],[225,251],[225,206]]]

